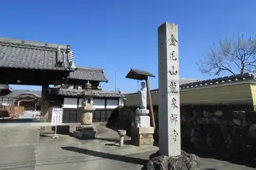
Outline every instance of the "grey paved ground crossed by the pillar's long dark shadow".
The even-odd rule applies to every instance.
[[[158,150],[157,147],[152,146],[140,148],[124,145],[120,148],[113,144],[114,141],[79,140],[67,135],[59,135],[57,140],[44,137],[41,138],[37,149],[35,169],[141,169],[149,156]],[[199,158],[199,162],[201,166],[198,170],[254,169],[215,159]]]

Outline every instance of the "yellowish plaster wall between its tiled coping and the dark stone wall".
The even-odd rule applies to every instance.
[[[251,89],[255,91],[254,98],[256,100],[256,85],[248,83],[230,84],[225,86],[206,86],[200,88],[187,88],[180,90],[181,105],[235,105],[250,104],[252,105]],[[158,105],[158,93],[152,93],[153,106]],[[148,99],[147,99],[148,100]],[[135,107],[139,103],[139,96],[127,96],[125,106]],[[147,103],[149,103],[147,101]],[[255,102],[256,106],[256,102]]]

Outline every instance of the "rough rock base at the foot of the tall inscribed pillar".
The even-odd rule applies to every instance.
[[[194,154],[187,154],[184,151],[181,152],[181,155],[178,157],[170,157],[159,155],[159,151],[156,154],[150,156],[150,160],[142,169],[150,170],[190,170],[199,168],[197,162],[197,156]]]

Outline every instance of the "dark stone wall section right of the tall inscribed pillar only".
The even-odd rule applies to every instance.
[[[252,155],[256,147],[256,113],[192,111],[181,116],[182,146],[218,158]]]

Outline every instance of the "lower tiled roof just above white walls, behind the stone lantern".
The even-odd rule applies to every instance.
[[[55,95],[64,95],[64,96],[82,96],[83,90],[78,89],[62,89],[62,88],[50,88],[51,94]],[[111,91],[98,91],[93,90],[96,92],[96,96],[98,98],[124,98],[125,95],[118,92],[111,92]]]

